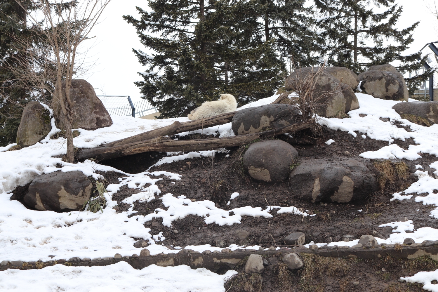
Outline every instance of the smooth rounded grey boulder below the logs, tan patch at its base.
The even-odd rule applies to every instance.
[[[290,165],[298,156],[292,145],[281,140],[251,144],[244,155],[244,168],[249,175],[265,182],[287,179]]]

